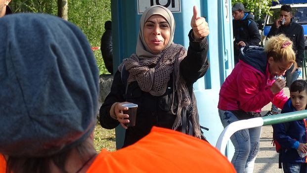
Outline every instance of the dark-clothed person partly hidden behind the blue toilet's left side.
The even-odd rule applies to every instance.
[[[112,23],[111,21],[106,21],[104,23],[105,32],[101,37],[100,50],[104,65],[108,72],[113,74],[113,48],[112,48]]]

